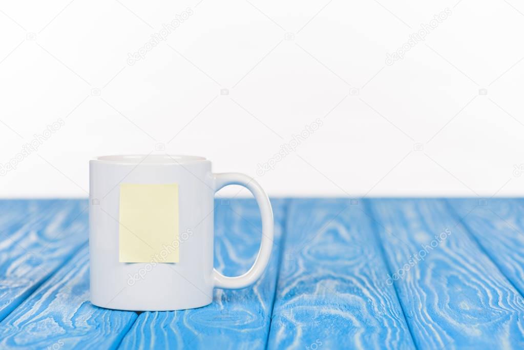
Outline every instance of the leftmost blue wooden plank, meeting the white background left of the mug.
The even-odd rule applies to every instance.
[[[0,320],[88,239],[86,200],[2,201]]]

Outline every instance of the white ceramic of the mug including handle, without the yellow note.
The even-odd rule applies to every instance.
[[[178,261],[164,262],[166,246],[147,262],[119,261],[121,185],[173,183],[178,187]],[[213,268],[214,193],[227,184],[245,185],[263,218],[255,264],[238,277],[223,276]],[[239,173],[213,174],[205,158],[106,156],[90,162],[90,290],[97,306],[165,311],[207,305],[213,288],[244,288],[260,277],[271,253],[272,234],[271,206],[259,185]]]

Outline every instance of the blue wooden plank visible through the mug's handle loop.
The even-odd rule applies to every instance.
[[[258,252],[261,223],[254,200],[215,202],[215,267],[228,276],[245,272]],[[271,200],[275,244],[268,270],[253,287],[215,289],[213,303],[193,310],[141,313],[121,348],[263,349],[266,346],[285,200]]]

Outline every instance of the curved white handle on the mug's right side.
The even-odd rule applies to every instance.
[[[262,218],[262,241],[257,258],[253,266],[243,275],[227,277],[213,269],[215,288],[240,289],[253,285],[266,269],[273,243],[273,210],[269,198],[260,185],[247,175],[238,172],[225,172],[213,174],[215,192],[227,185],[241,185],[247,188],[255,197],[260,216]]]

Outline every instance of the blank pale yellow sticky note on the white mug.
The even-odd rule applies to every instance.
[[[178,263],[178,184],[120,184],[119,261]]]

